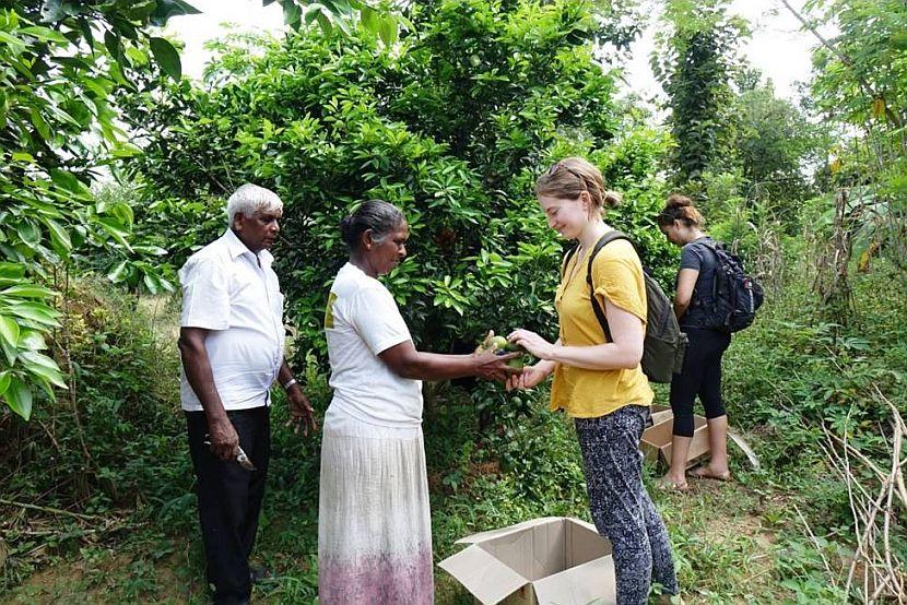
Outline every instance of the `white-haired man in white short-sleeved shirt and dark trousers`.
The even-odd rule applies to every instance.
[[[227,201],[229,228],[179,271],[180,399],[215,603],[248,603],[251,593],[248,559],[268,474],[274,380],[286,390],[296,430],[317,428],[283,358],[283,295],[268,251],[282,213],[272,191],[239,187]]]

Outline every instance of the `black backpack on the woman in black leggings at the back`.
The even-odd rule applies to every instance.
[[[762,285],[746,274],[740,257],[728,251],[723,244],[702,244],[715,254],[711,296],[697,293],[696,297],[708,315],[706,328],[728,333],[749,328],[765,299]]]

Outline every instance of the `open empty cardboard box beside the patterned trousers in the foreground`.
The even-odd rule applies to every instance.
[[[483,605],[612,605],[611,543],[594,525],[545,517],[457,541],[438,564]]]

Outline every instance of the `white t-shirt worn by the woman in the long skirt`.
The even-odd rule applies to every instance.
[[[422,381],[396,375],[378,354],[412,340],[390,292],[346,263],[338,272],[325,309],[331,363],[331,408],[386,427],[422,424]]]

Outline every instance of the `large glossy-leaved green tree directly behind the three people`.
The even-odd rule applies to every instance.
[[[670,258],[650,228],[667,141],[620,117],[613,78],[587,43],[596,25],[586,8],[419,5],[419,33],[398,52],[355,33],[225,47],[209,68],[215,90],[184,82],[130,111],[145,139],[132,169],[154,217],[149,230],[162,246],[178,242],[181,262],[223,228],[205,223],[188,240],[188,204],[246,180],[273,188],[285,203],[275,252],[291,320],[320,347],[327,287],[345,258],[340,218],[382,198],[410,220],[410,260],[386,283],[420,344],[469,346],[488,328],[520,324],[552,335],[561,245],[532,195],[546,163],[569,153],[597,162],[628,199],[609,221],[647,262]]]

